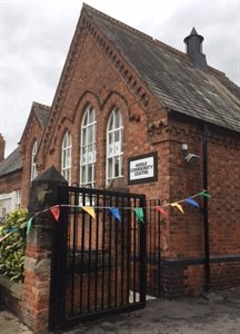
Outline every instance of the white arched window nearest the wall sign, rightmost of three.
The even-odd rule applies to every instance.
[[[114,107],[107,127],[107,185],[113,178],[123,176],[123,121],[118,107]]]

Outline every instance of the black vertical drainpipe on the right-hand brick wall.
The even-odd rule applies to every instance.
[[[204,125],[202,140],[202,179],[203,189],[208,190],[208,126]],[[211,293],[210,256],[209,256],[209,220],[208,220],[208,197],[203,196],[203,224],[204,224],[204,285],[207,294]]]

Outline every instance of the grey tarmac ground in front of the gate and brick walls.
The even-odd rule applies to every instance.
[[[0,334],[32,334],[6,311]],[[147,307],[80,324],[66,334],[240,334],[240,287],[200,297],[151,299]]]

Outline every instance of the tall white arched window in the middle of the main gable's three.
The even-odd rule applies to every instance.
[[[81,124],[80,151],[80,185],[92,187],[96,185],[96,111],[88,106]]]

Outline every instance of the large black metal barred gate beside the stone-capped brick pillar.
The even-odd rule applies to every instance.
[[[144,195],[60,187],[59,205],[49,328],[144,307]]]

